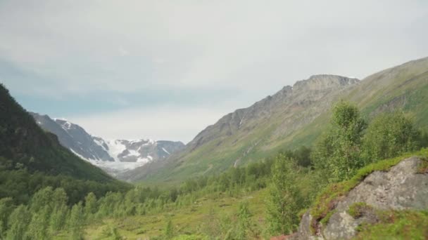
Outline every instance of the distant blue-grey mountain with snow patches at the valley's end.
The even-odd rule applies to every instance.
[[[45,131],[58,136],[61,145],[113,175],[165,159],[184,147],[182,142],[172,141],[103,140],[65,119],[51,119],[34,112],[30,114]]]

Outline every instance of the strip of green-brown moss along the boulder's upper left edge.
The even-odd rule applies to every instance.
[[[400,161],[410,156],[428,156],[428,149],[425,148],[420,152],[408,153],[393,159],[378,161],[361,168],[350,180],[329,185],[320,195],[317,196],[315,204],[313,204],[313,207],[310,209],[310,215],[313,216],[310,228],[312,229],[313,234],[315,234],[318,228],[318,223],[336,207],[336,203],[344,198],[351,189],[363,181],[367,175],[370,175],[370,173],[374,171],[389,171],[391,167],[396,166]]]

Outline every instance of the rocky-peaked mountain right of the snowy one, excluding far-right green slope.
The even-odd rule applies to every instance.
[[[225,171],[257,161],[276,151],[279,142],[329,109],[337,96],[359,84],[358,79],[315,75],[285,86],[244,109],[223,116],[201,131],[185,149],[162,164],[149,164],[120,177],[127,180],[168,180]]]

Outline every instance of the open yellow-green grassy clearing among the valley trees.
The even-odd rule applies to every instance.
[[[264,201],[266,197],[267,190],[263,189],[239,198],[220,196],[218,199],[208,199],[203,197],[197,199],[191,206],[171,208],[160,213],[120,219],[108,218],[87,226],[85,239],[111,239],[111,236],[106,234],[106,232],[112,231],[111,226],[115,226],[115,232],[126,239],[153,238],[163,234],[168,219],[174,226],[177,239],[204,239],[204,233],[220,231],[217,228],[222,221],[225,221],[225,218],[232,220],[232,224],[229,225],[232,227],[238,206],[243,201],[248,202],[252,213],[252,227],[262,229],[265,225]],[[190,233],[196,235],[190,235]],[[66,234],[60,234],[55,239],[66,239]]]

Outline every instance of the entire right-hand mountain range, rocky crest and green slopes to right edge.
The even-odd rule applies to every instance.
[[[225,171],[232,166],[313,142],[328,126],[336,100],[355,102],[370,118],[377,112],[401,109],[428,128],[428,58],[386,69],[359,81],[315,75],[285,86],[251,107],[237,109],[201,131],[183,151],[167,161],[147,164],[120,178],[175,181]]]

